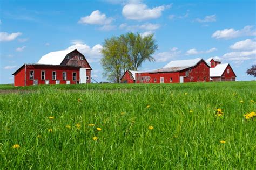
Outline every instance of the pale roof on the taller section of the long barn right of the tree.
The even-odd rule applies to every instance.
[[[199,61],[201,61],[202,58],[196,58],[192,60],[176,60],[171,61],[167,65],[164,66],[164,68],[170,68],[170,67],[194,67],[197,65]]]

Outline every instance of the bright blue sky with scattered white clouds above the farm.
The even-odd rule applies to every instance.
[[[104,39],[126,32],[154,33],[156,62],[218,56],[230,63],[237,80],[255,80],[246,69],[256,64],[255,1],[4,1],[0,2],[0,83],[24,63],[52,51],[78,48],[105,81],[100,66]]]

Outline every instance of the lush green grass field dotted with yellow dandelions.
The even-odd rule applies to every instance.
[[[0,91],[0,169],[256,168],[256,82]]]

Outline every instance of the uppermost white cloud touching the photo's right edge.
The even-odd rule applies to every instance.
[[[241,30],[224,29],[212,34],[212,38],[216,39],[233,39],[241,36],[256,36],[256,31],[253,30],[253,26],[247,25]]]

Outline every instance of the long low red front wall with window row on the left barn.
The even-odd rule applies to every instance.
[[[76,84],[79,81],[79,67],[64,67],[63,66],[40,66],[40,65],[26,65],[26,86],[33,85],[33,81],[37,80],[38,84],[45,84],[45,80],[49,80],[49,84],[56,84],[59,80],[60,84]],[[34,79],[30,79],[30,70],[34,71]],[[42,80],[41,71],[45,71],[45,79]],[[56,80],[52,80],[52,72],[56,72]],[[63,72],[66,72],[66,80],[63,80]],[[76,73],[76,80],[73,80],[73,72]]]

